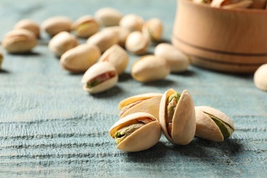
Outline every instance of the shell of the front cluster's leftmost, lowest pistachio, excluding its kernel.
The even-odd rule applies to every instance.
[[[146,112],[136,112],[121,118],[110,128],[110,136],[115,138],[115,134],[118,130],[131,125],[136,122],[136,120],[143,119],[149,119],[151,122],[146,123],[139,129],[136,129],[136,131],[129,134],[127,138],[117,145],[117,149],[125,152],[136,152],[149,149],[157,144],[162,135],[160,123],[154,116]]]

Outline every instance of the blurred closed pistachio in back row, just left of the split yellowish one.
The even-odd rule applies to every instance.
[[[53,16],[47,18],[42,24],[41,28],[50,36],[54,36],[61,31],[71,31],[73,21],[66,16]]]

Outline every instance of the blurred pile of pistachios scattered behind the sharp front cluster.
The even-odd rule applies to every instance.
[[[164,79],[190,65],[188,55],[160,43],[164,27],[159,18],[144,21],[142,16],[123,15],[114,8],[101,8],[94,16],[81,16],[74,22],[66,16],[53,16],[40,27],[23,19],[4,36],[2,47],[8,53],[27,53],[38,44],[41,29],[51,36],[48,47],[60,58],[60,66],[70,73],[84,73],[81,83],[92,94],[116,85],[129,64],[129,53],[140,56],[131,66],[131,76],[140,82]],[[78,38],[87,40],[79,44]],[[153,55],[147,55],[151,42],[160,44]]]

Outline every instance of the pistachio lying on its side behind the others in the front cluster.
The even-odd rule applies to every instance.
[[[120,118],[135,112],[147,112],[159,120],[160,99],[162,99],[162,94],[154,92],[123,99],[118,103]]]

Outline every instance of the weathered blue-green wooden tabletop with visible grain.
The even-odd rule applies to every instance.
[[[58,14],[73,19],[104,6],[145,19],[162,18],[170,41],[176,1],[34,1],[1,0],[0,36],[21,18],[38,23]],[[4,14],[4,15],[3,15]],[[4,25],[3,25],[4,24]],[[216,73],[190,66],[181,74],[142,84],[129,75],[100,94],[82,90],[82,75],[60,68],[49,38],[31,54],[5,58],[0,71],[0,177],[266,177],[267,93],[257,90],[253,75]],[[79,39],[80,42],[84,40]],[[153,53],[151,44],[149,52]],[[194,138],[186,147],[162,136],[155,147],[123,153],[108,134],[118,120],[118,103],[145,92],[187,89],[195,105],[225,112],[236,127],[224,142]]]

